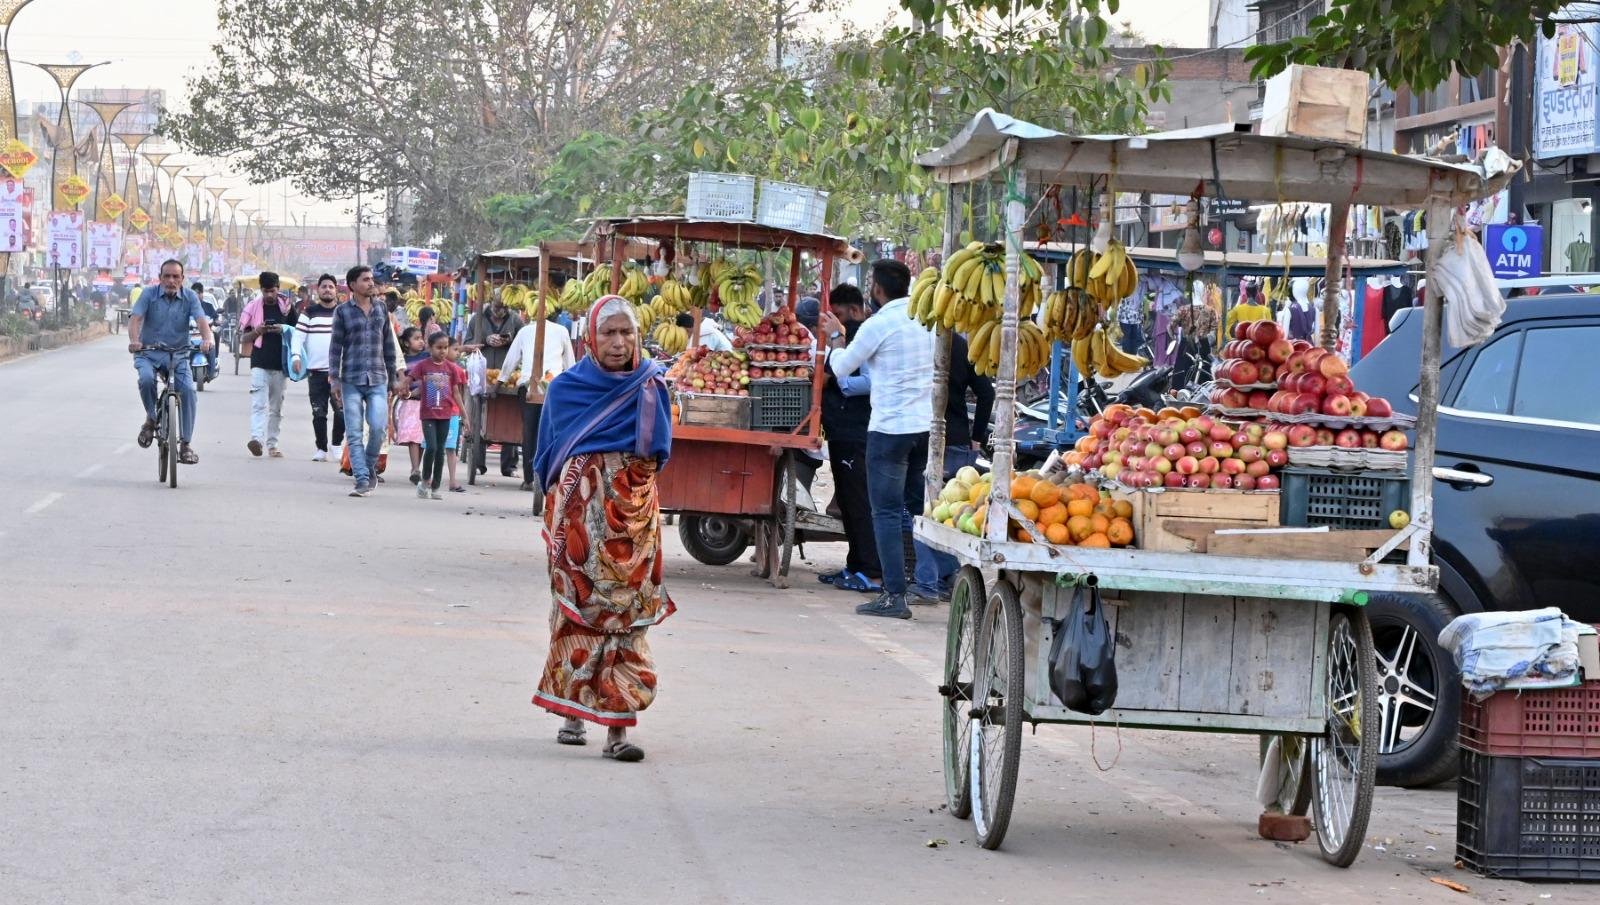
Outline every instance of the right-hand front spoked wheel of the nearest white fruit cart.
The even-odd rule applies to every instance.
[[[1310,740],[1312,823],[1322,857],[1350,867],[1366,838],[1378,780],[1378,660],[1358,608],[1328,622],[1326,728]]]

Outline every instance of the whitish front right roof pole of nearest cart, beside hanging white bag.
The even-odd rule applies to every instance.
[[[1434,547],[1434,456],[1438,451],[1438,358],[1440,333],[1445,325],[1445,299],[1438,291],[1434,269],[1445,243],[1456,230],[1453,205],[1429,205],[1427,294],[1422,299],[1422,368],[1416,387],[1416,449],[1411,456],[1411,521],[1418,532],[1406,552],[1408,566],[1426,566]]]

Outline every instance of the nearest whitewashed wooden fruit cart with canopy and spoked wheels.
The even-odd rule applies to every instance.
[[[1459,205],[1493,193],[1507,179],[1339,144],[1242,134],[1230,123],[1080,138],[992,112],[920,163],[952,193],[981,181],[1003,185],[1005,297],[989,512],[1013,515],[1019,515],[1010,497],[1018,277],[1030,229],[1029,192],[1325,201],[1333,205],[1333,235],[1342,235],[1352,203],[1427,206],[1430,224],[1450,224]],[[946,203],[946,211],[960,208],[958,198]],[[958,225],[952,217],[947,235]],[[1430,269],[1445,241],[1435,237]],[[947,237],[946,251],[952,245]],[[1330,291],[1338,291],[1341,245],[1334,241],[1326,262]],[[982,847],[998,847],[1005,838],[1024,723],[1102,723],[1261,736],[1262,769],[1286,777],[1274,785],[1278,801],[1269,812],[1304,815],[1309,809],[1323,857],[1339,867],[1354,862],[1366,831],[1378,753],[1376,662],[1362,604],[1373,592],[1422,593],[1437,584],[1429,544],[1440,320],[1442,302],[1429,293],[1413,521],[1365,560],[1058,547],[1011,540],[1006,518],[989,518],[981,537],[917,520],[918,539],[962,563],[941,684],[944,777],[950,811],[973,817]],[[946,331],[934,349],[933,406],[941,411]],[[942,462],[942,422],[934,419],[928,460]],[[928,499],[938,499],[941,478],[930,467]],[[1403,564],[1384,561],[1405,544]],[[1053,620],[1072,609],[1082,585],[1106,593],[1117,644],[1115,707],[1093,718],[1062,707],[1048,683]],[[1254,780],[1240,779],[1246,788]]]

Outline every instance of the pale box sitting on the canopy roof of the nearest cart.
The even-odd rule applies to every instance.
[[[1366,91],[1365,72],[1290,66],[1267,80],[1261,134],[1360,147],[1366,139]]]

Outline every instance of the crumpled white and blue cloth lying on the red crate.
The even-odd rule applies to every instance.
[[[1576,675],[1578,628],[1554,606],[1469,612],[1445,625],[1438,646],[1454,656],[1461,684],[1483,697],[1515,680]]]

